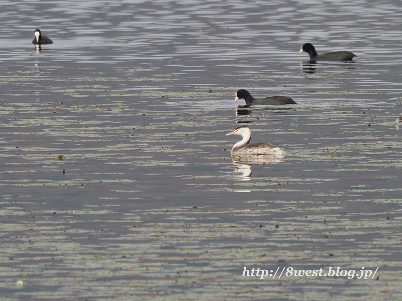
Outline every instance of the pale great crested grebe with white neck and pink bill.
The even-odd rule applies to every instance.
[[[255,154],[255,155],[272,155],[282,157],[285,154],[285,150],[281,147],[277,147],[270,143],[249,143],[251,139],[251,131],[247,125],[237,127],[233,132],[226,134],[240,135],[243,139],[237,142],[232,147],[232,154]]]

